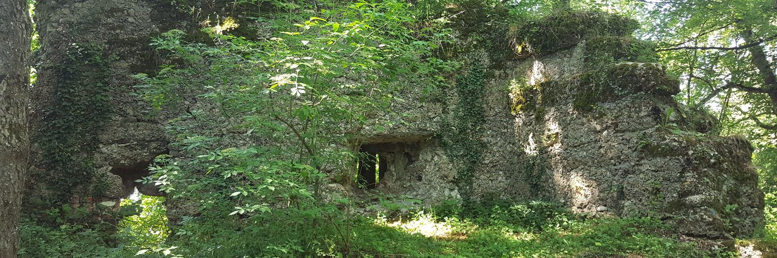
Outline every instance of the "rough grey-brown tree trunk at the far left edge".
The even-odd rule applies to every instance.
[[[19,251],[19,211],[29,157],[32,20],[25,0],[0,0],[0,258]]]

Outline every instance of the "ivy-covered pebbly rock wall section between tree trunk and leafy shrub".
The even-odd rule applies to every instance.
[[[146,117],[148,104],[132,95],[131,76],[159,66],[151,37],[188,19],[156,1],[39,1],[35,11],[26,205],[64,201],[91,211],[101,203],[115,211],[154,157],[168,152],[159,118]]]

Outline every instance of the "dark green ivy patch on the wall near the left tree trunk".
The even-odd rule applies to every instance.
[[[54,64],[57,85],[51,108],[37,132],[37,144],[43,150],[41,161],[46,174],[34,176],[51,191],[51,200],[64,202],[76,187],[89,185],[95,175],[90,153],[97,149],[100,129],[110,118],[110,64],[115,54],[105,54],[105,46],[73,43],[65,50],[64,60]],[[99,193],[101,184],[90,189]]]

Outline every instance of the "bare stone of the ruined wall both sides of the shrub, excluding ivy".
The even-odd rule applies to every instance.
[[[138,186],[134,180],[145,176],[154,157],[171,152],[175,156],[163,122],[177,117],[175,112],[183,112],[186,105],[212,109],[184,96],[179,111],[146,117],[148,103],[131,95],[137,83],[131,75],[152,73],[163,63],[161,54],[148,46],[149,37],[191,28],[193,19],[169,2],[151,0],[48,0],[38,2],[36,12],[41,50],[31,132],[51,122],[47,109],[58,105],[57,88],[63,84],[57,64],[64,63],[68,47],[94,43],[106,46],[106,57],[119,57],[110,64],[105,82],[112,107],[109,119],[99,134],[79,136],[96,139],[94,150],[82,157],[93,163],[106,191],[90,196],[90,186],[81,186],[71,197],[76,206],[113,202],[117,207],[120,198]],[[258,38],[262,36],[254,35]],[[408,82],[409,90],[397,95],[405,101],[395,101],[395,115],[386,116],[392,126],[380,132],[364,130],[363,147],[387,163],[377,190],[434,205],[465,197],[460,186],[468,184],[468,197],[475,199],[497,193],[516,201],[557,201],[575,212],[656,215],[689,236],[748,236],[758,229],[764,223],[764,204],[750,165],[750,144],[735,136],[715,136],[714,119],[678,105],[671,98],[678,81],[667,77],[660,65],[594,65],[589,62],[594,40],[585,39],[565,39],[552,53],[524,53],[531,47],[522,48],[524,52],[517,51],[520,57],[510,57],[518,60],[473,50],[462,57],[463,72],[448,77],[451,88],[434,93],[436,98],[429,101],[420,101],[428,96]],[[440,132],[453,125],[457,105],[468,97],[459,95],[458,80],[476,66],[486,67],[487,74],[479,88],[485,122],[479,127],[482,133],[472,139],[483,143],[483,149],[472,178],[462,184],[461,160],[441,144]],[[241,132],[225,127],[224,133]],[[228,148],[249,143],[222,144]],[[261,139],[250,144],[261,144]],[[33,153],[38,156],[33,170],[39,175],[61,172],[47,172],[40,146],[33,146]],[[28,201],[54,191],[41,176],[33,177],[27,189]],[[164,194],[154,189],[141,193]],[[171,221],[197,211],[185,202],[168,202]]]

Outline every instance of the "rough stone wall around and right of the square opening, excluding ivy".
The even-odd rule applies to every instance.
[[[606,85],[614,89],[597,91],[604,96],[586,102],[594,88],[604,86],[594,85],[584,70],[585,47],[507,61],[504,69],[493,71],[484,85],[487,147],[472,197],[497,192],[517,201],[557,201],[575,212],[659,216],[685,235],[707,238],[729,238],[732,232],[749,236],[763,225],[750,144],[709,132],[714,119],[675,102],[671,95],[678,81],[659,64],[605,68],[605,75],[621,69],[634,80],[615,77]],[[473,60],[488,62],[483,56]],[[413,119],[367,138],[385,142],[433,135],[450,119],[443,110],[457,102],[455,91],[446,95],[444,103],[406,101],[393,107]],[[517,95],[528,98],[516,101]],[[392,192],[427,205],[461,197],[452,183],[451,157],[435,140],[418,145],[430,158],[415,163],[416,177],[392,178]]]

